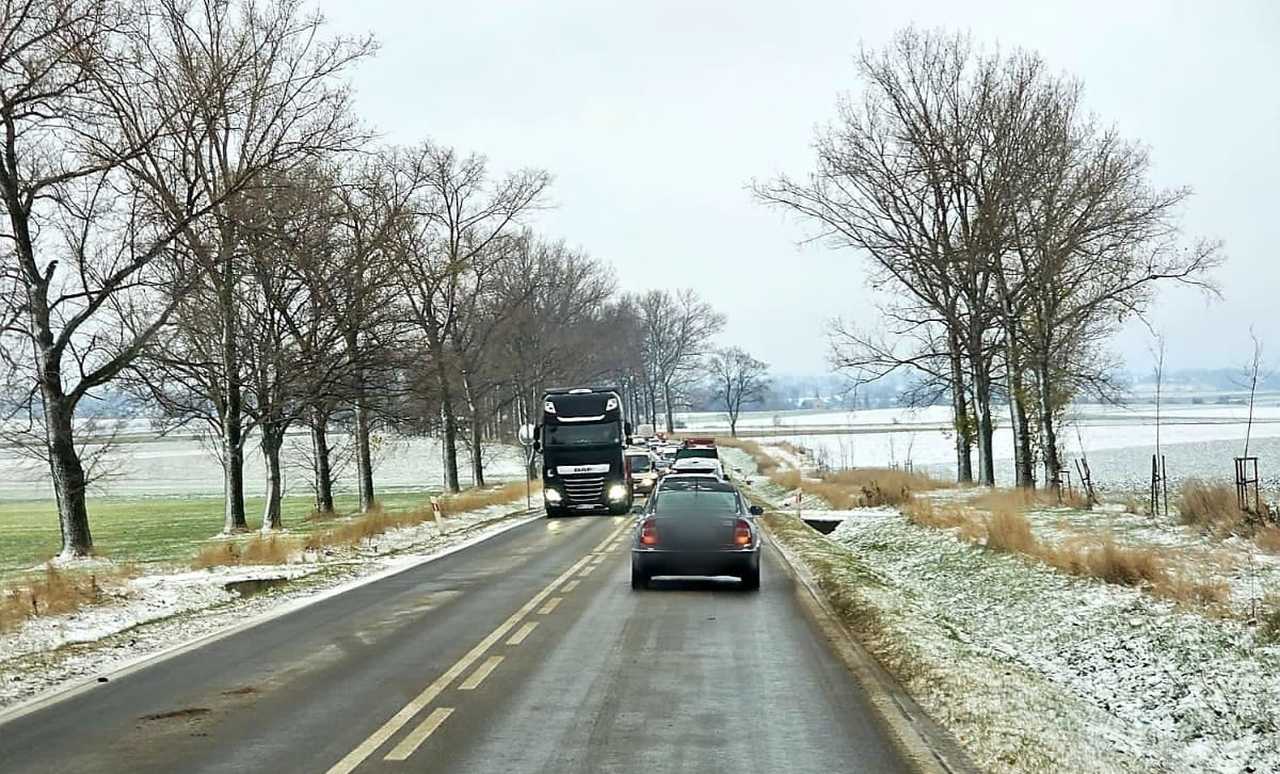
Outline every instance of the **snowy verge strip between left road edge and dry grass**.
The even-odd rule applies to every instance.
[[[0,633],[0,709],[191,642],[255,615],[300,604],[344,583],[421,563],[525,516],[492,505],[393,530],[358,549],[310,553],[284,565],[157,572],[128,581],[114,600],[68,615],[29,619]],[[259,586],[241,592],[237,587]]]

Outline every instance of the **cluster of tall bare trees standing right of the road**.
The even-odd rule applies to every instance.
[[[908,402],[948,402],[960,481],[995,484],[1007,406],[1016,484],[1041,467],[1056,487],[1069,406],[1116,397],[1108,342],[1158,285],[1212,293],[1221,246],[1181,233],[1189,189],[1153,184],[1147,150],[1034,52],[910,28],[858,72],[815,170],[755,184],[869,258],[881,321],[837,321],[835,365],[860,383],[909,370]]]

